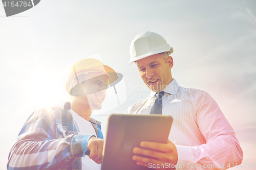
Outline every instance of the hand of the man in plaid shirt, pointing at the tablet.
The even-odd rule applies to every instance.
[[[90,137],[87,150],[91,151],[89,158],[96,163],[101,163],[104,140],[95,136]]]

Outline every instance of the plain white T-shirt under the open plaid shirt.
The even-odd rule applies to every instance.
[[[74,110],[70,110],[72,113],[76,123],[77,123],[77,130],[79,135],[94,135],[97,136],[92,123],[87,121],[86,119],[79,116]],[[92,159],[89,158],[88,155],[84,155],[82,157],[82,170],[100,170],[101,164],[97,164]]]

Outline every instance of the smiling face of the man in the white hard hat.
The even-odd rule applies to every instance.
[[[162,91],[172,80],[170,68],[173,58],[164,59],[166,54],[155,54],[137,61],[137,66],[143,82],[154,92]]]

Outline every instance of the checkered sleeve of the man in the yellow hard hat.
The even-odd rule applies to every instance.
[[[82,147],[82,142],[87,144],[88,135],[61,136],[54,111],[40,109],[28,118],[9,153],[8,169],[66,169],[83,156],[87,147]]]

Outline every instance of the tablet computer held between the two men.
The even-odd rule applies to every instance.
[[[132,160],[141,141],[166,143],[173,123],[169,115],[112,114],[108,120],[101,170],[143,170]]]

